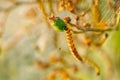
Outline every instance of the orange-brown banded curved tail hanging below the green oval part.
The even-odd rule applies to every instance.
[[[76,59],[78,59],[79,61],[85,62],[85,63],[91,65],[92,67],[94,67],[97,74],[99,75],[100,74],[99,66],[96,63],[94,63],[93,61],[91,61],[90,59],[79,55],[78,51],[76,50],[76,48],[74,46],[74,42],[73,42],[73,39],[72,39],[72,33],[71,33],[70,29],[67,28],[65,30],[65,32],[66,32],[66,36],[67,36],[68,46],[69,46],[73,56]]]

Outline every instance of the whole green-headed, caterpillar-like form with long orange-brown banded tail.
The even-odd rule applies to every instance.
[[[91,65],[92,67],[94,67],[97,74],[99,75],[100,74],[99,66],[96,63],[94,63],[93,61],[91,61],[90,59],[79,55],[77,49],[75,48],[73,39],[72,39],[71,30],[69,28],[67,28],[65,22],[62,19],[60,19],[59,17],[54,17],[54,16],[50,17],[49,19],[51,20],[51,25],[55,30],[64,31],[66,33],[68,46],[69,46],[69,49],[71,50],[72,55],[77,60],[79,60],[81,62],[85,62],[85,63]]]

